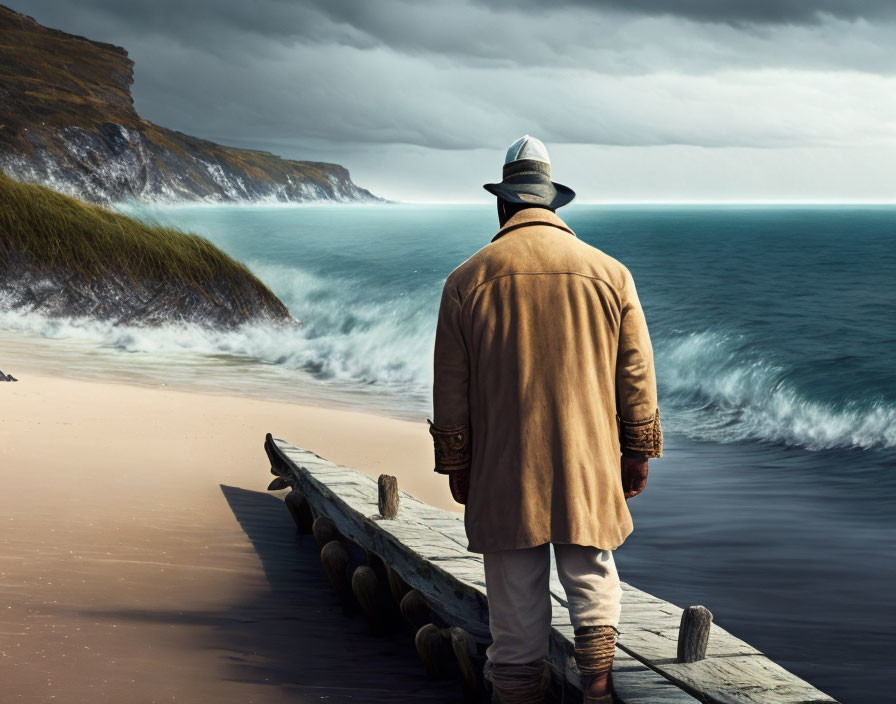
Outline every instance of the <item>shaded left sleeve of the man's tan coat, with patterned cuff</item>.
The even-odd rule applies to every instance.
[[[470,418],[467,390],[470,363],[461,329],[460,300],[450,279],[442,290],[433,354],[433,421],[429,432],[435,450],[435,471],[469,469]]]

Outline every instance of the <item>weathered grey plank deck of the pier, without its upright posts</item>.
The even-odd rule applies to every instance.
[[[381,556],[445,624],[463,628],[481,643],[490,640],[482,558],[466,550],[460,516],[399,492],[395,518],[383,519],[375,480],[285,441],[275,440],[274,445],[316,514],[329,517],[342,535]],[[566,672],[578,687],[573,629],[555,569],[550,590],[549,658],[555,670]],[[704,660],[676,662],[682,610],[631,585],[623,583],[622,590],[622,652],[613,677],[623,702],[694,701],[685,691],[708,704],[834,702],[717,624],[710,628]]]

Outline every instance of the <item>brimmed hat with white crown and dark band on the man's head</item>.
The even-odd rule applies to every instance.
[[[486,183],[483,188],[510,203],[543,205],[551,210],[576,197],[569,186],[551,181],[548,150],[540,139],[528,134],[507,150],[501,183]]]

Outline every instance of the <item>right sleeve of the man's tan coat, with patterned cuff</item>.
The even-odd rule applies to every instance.
[[[622,454],[662,457],[653,347],[631,273],[625,272],[616,357],[616,420]]]

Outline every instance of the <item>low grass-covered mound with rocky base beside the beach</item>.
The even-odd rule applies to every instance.
[[[261,281],[207,240],[2,173],[0,308],[138,325],[293,322]]]

